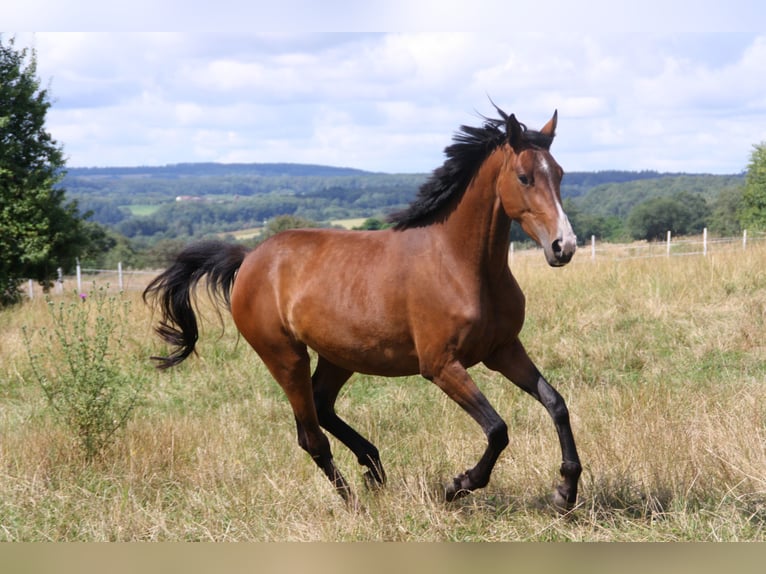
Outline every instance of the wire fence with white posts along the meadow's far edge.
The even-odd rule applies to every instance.
[[[628,244],[597,242],[595,237],[578,247],[577,261],[590,259],[591,261],[626,261],[630,259],[646,259],[652,257],[706,257],[712,253],[725,251],[747,250],[754,245],[766,242],[766,232],[748,233],[744,231],[739,237],[711,238],[704,230],[702,236],[684,237],[674,239],[668,231],[665,241],[637,241]],[[525,247],[519,249],[511,243],[509,263],[512,265],[516,257],[526,257],[536,254],[540,248]],[[543,264],[544,260],[540,259]],[[125,270],[122,263],[117,264],[117,269],[94,269],[76,267],[74,275],[64,275],[59,270],[58,279],[54,283],[52,294],[61,295],[73,291],[81,297],[86,297],[87,292],[98,285],[115,291],[143,291],[157,270]],[[42,287],[33,280],[27,282],[27,296],[34,299],[42,294]]]

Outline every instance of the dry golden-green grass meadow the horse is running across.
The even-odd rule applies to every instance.
[[[417,377],[352,379],[338,410],[380,448],[389,482],[366,491],[333,441],[361,500],[347,510],[231,321],[221,335],[203,305],[199,357],[155,372],[147,357],[163,349],[138,292],[124,295],[128,337],[112,358],[146,381],[143,401],[87,464],[30,372],[22,326],[50,322],[37,298],[0,312],[0,540],[764,541],[764,263],[766,245],[630,261],[581,253],[563,269],[516,256],[523,340],[566,398],[583,459],[580,503],[565,517],[546,503],[560,462],[552,423],[483,367],[471,372],[511,443],[489,486],[450,504],[442,485],[477,460],[480,429]],[[37,350],[51,370],[64,360]]]

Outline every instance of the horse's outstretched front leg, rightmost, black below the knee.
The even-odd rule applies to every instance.
[[[577,501],[577,483],[582,472],[577,455],[569,410],[561,395],[540,374],[518,339],[511,345],[496,351],[484,362],[492,370],[499,371],[518,387],[536,398],[546,408],[556,426],[561,445],[561,477],[563,481],[553,493],[553,504],[562,512],[572,509]]]

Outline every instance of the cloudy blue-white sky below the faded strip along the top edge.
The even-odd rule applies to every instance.
[[[533,128],[557,108],[554,152],[567,171],[735,172],[764,138],[766,36],[522,23],[502,34],[40,33],[19,43],[36,46],[51,79],[49,128],[72,166],[429,171],[460,124],[492,113],[488,95]]]

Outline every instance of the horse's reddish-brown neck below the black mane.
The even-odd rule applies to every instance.
[[[495,191],[503,162],[501,149],[490,154],[443,226],[451,249],[482,274],[508,267],[511,220]]]

